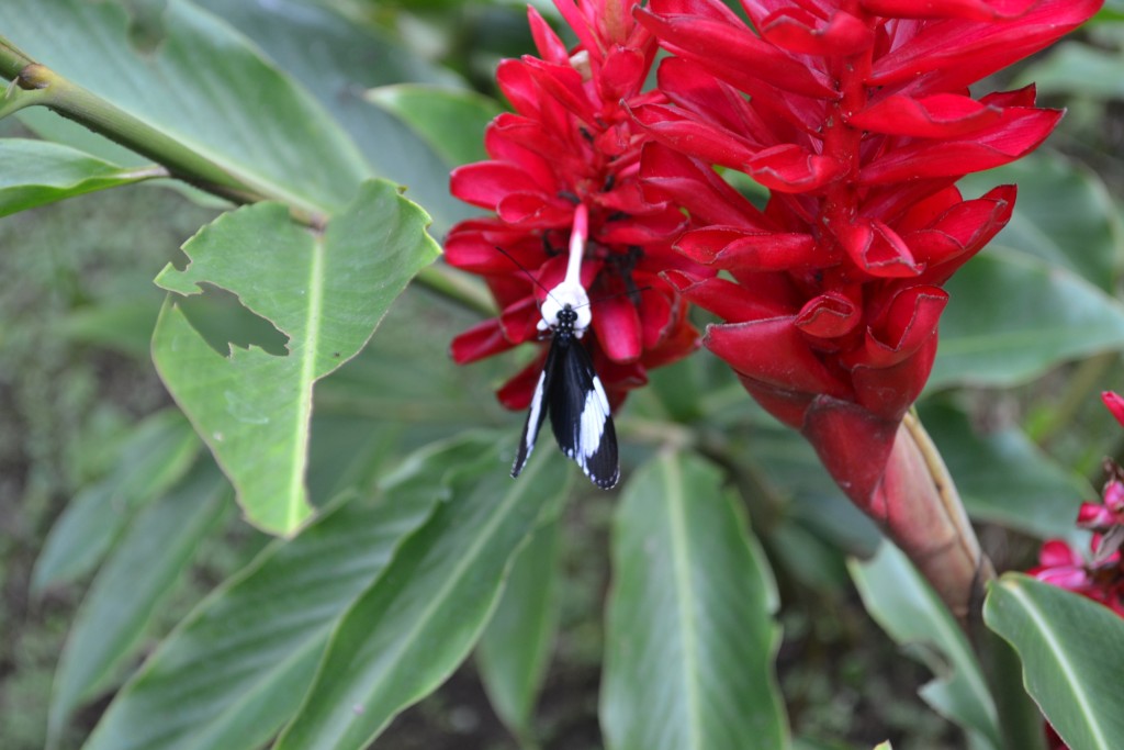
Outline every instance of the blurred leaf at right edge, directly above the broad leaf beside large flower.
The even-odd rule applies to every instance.
[[[969,175],[961,188],[982,193],[1001,183],[1017,184],[1018,200],[1010,222],[991,241],[992,249],[1033,255],[1113,292],[1124,232],[1096,172],[1060,154],[1040,152]]]

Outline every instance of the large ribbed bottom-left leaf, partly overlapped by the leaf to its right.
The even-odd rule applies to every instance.
[[[491,435],[406,459],[377,497],[336,503],[200,604],[118,693],[85,750],[256,748],[300,705],[328,634]]]

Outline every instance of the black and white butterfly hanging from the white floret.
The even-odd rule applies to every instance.
[[[565,304],[550,325],[553,332],[546,364],[531,399],[527,423],[511,467],[519,472],[531,458],[546,414],[559,448],[573,459],[601,489],[611,489],[620,478],[617,433],[613,428],[609,399],[593,370],[593,361],[579,340],[578,311]]]

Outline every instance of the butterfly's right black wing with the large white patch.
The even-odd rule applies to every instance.
[[[595,485],[610,489],[620,478],[617,434],[589,352],[575,338],[555,337],[551,355],[555,361],[553,368],[547,361],[553,376],[545,394],[559,448]]]

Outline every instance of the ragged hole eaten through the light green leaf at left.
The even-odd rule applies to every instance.
[[[191,326],[207,344],[223,356],[229,356],[230,346],[250,349],[251,344],[274,356],[288,356],[289,336],[268,318],[252,313],[234,295],[214,284],[202,283],[201,295],[176,300]]]

